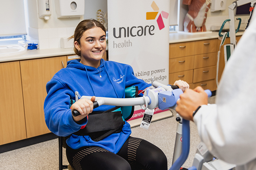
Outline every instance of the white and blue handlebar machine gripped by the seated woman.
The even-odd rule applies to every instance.
[[[211,96],[210,90],[205,90],[208,97]],[[179,100],[179,95],[183,92],[177,86],[164,85],[159,82],[152,80],[152,86],[147,88],[144,91],[143,97],[138,98],[107,98],[107,97],[96,97],[93,106],[99,107],[101,105],[111,105],[111,106],[136,106],[140,105],[142,109],[155,109],[159,107],[161,110],[165,109],[175,109],[176,102]],[[79,96],[79,93],[76,92],[76,101],[78,98],[87,98],[91,99],[91,96]],[[73,111],[74,116],[80,115],[78,111]],[[184,164],[188,157],[189,148],[190,148],[190,127],[189,121],[179,118],[180,123],[182,123],[182,143],[181,145],[176,144],[175,147],[179,147],[175,152],[179,152],[177,155],[176,161],[172,164],[170,170],[179,170]],[[195,169],[196,167],[193,166]],[[199,170],[199,169],[197,169]]]

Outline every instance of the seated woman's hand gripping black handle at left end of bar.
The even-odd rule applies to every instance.
[[[72,104],[71,112],[73,112],[73,110],[77,110],[81,114],[79,116],[73,116],[75,122],[82,120],[93,111],[93,102],[95,102],[95,98],[95,96],[91,97],[91,100],[82,98]]]

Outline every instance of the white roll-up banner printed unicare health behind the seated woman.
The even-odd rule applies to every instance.
[[[170,0],[108,0],[109,60],[131,65],[147,83],[168,84],[169,10]],[[135,106],[130,120],[143,114]]]

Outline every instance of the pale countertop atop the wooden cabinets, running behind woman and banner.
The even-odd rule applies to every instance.
[[[243,35],[243,32],[236,33],[236,36]],[[207,33],[170,33],[169,43],[181,43],[187,41],[198,41],[203,39],[214,39],[218,38],[218,32],[207,32]],[[7,61],[20,61],[26,59],[37,59],[45,57],[55,57],[63,55],[75,55],[73,48],[51,48],[44,50],[27,50],[26,53],[21,55],[1,56],[0,63]]]

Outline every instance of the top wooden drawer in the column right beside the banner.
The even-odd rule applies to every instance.
[[[169,58],[194,55],[195,42],[175,43],[169,45]]]

